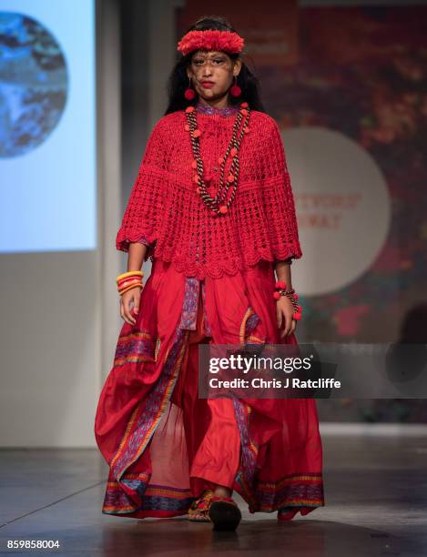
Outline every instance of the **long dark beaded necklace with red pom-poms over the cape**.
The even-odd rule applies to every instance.
[[[229,147],[227,147],[225,155],[218,159],[220,169],[219,188],[215,197],[211,197],[206,188],[206,182],[209,181],[209,179],[205,177],[203,160],[200,156],[199,137],[201,131],[198,128],[197,110],[194,106],[188,106],[185,110],[185,114],[188,122],[185,129],[189,132],[194,157],[191,167],[196,170],[193,181],[198,186],[197,192],[214,216],[225,215],[229,211],[229,206],[236,195],[238,187],[239,148],[244,135],[249,133],[249,105],[248,103],[240,103],[239,111],[236,114],[233,125],[233,133],[229,142]],[[225,168],[229,157],[232,157],[232,162],[229,167],[229,176],[225,180]],[[230,194],[229,189],[231,190]]]

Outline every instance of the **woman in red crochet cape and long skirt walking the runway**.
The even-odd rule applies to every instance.
[[[219,17],[178,42],[168,109],[117,233],[125,323],[95,422],[108,514],[188,514],[220,530],[241,518],[233,490],[279,521],[324,504],[314,400],[198,398],[199,343],[297,344],[290,176],[243,46]]]

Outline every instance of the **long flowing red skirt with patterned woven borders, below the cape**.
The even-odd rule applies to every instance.
[[[215,485],[238,491],[250,512],[285,519],[324,505],[315,400],[198,398],[199,343],[297,344],[280,339],[274,282],[269,261],[199,280],[154,260],[97,404],[104,513],[186,514]]]

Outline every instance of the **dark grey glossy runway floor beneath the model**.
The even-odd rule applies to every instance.
[[[239,500],[231,533],[102,514],[107,465],[96,450],[0,451],[0,554],[6,540],[58,540],[66,555],[427,555],[427,437],[322,437],[326,506],[278,524]]]

